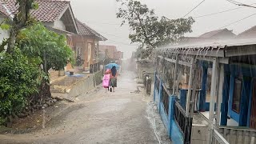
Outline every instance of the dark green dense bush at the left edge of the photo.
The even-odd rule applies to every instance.
[[[0,121],[26,106],[27,97],[38,91],[38,66],[30,63],[18,48],[0,53]],[[1,124],[1,123],[0,123]]]

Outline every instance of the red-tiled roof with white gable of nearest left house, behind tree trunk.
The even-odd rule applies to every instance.
[[[13,18],[18,6],[16,0],[0,0],[0,14],[2,17]],[[69,1],[36,0],[38,9],[31,10],[32,17],[57,32],[78,34],[78,27],[74,21],[74,14]]]

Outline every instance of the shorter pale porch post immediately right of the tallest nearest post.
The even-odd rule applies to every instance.
[[[215,127],[218,128],[220,122],[220,114],[221,114],[221,107],[222,107],[222,90],[223,90],[223,83],[224,83],[224,65],[220,64],[219,70],[219,81],[218,81],[218,104],[217,104],[217,120],[215,122]]]

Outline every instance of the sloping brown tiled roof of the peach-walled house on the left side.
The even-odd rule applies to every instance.
[[[107,39],[103,37],[101,34],[98,34],[97,31],[91,29],[89,26],[87,26],[85,23],[80,22],[77,18],[75,19],[77,26],[78,26],[78,33],[85,35],[85,36],[94,36],[99,38],[102,41],[106,41]]]

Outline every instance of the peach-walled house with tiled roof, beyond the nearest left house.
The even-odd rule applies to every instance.
[[[83,69],[89,70],[91,64],[99,62],[98,42],[107,39],[78,19],[75,19],[75,22],[78,26],[78,34],[72,36],[75,57],[80,56],[84,61]]]

